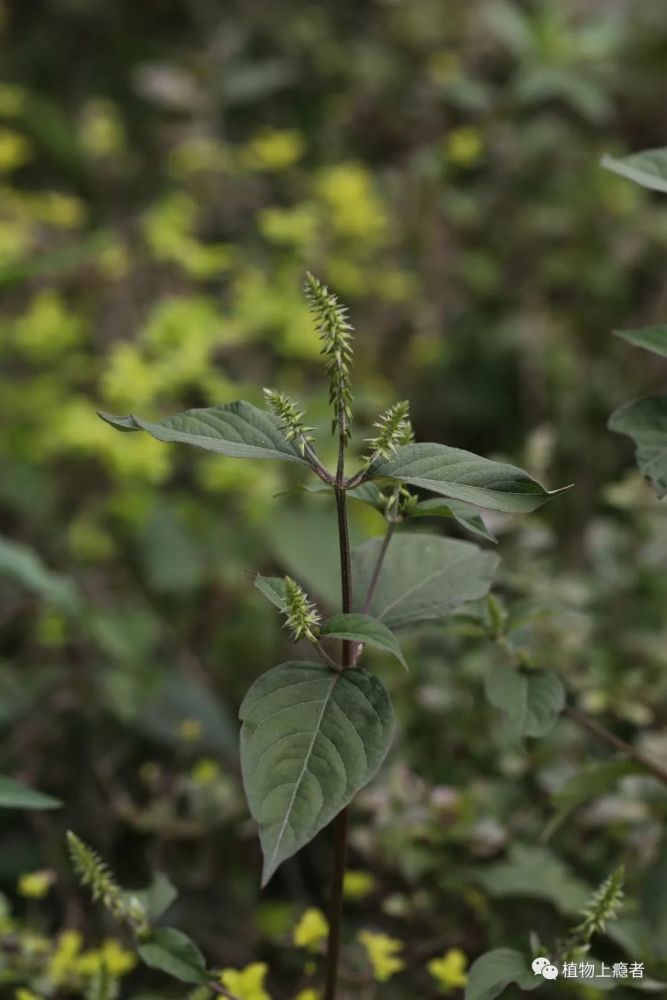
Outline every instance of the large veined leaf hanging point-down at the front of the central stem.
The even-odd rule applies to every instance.
[[[255,681],[239,715],[243,784],[266,885],[377,772],[394,713],[382,682],[364,670],[291,662]]]

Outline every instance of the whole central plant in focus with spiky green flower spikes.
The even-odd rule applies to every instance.
[[[338,442],[333,471],[320,460],[301,408],[273,389],[265,390],[269,412],[240,401],[187,410],[158,422],[134,415],[100,416],[120,431],[143,430],[159,441],[236,458],[289,462],[314,474],[316,489],[333,493],[339,566],[330,572],[340,576],[340,612],[326,617],[289,577],[256,577],[255,585],[285,616],[295,641],[308,641],[319,662],[292,660],[269,670],[248,691],[240,717],[243,781],[264,855],[262,884],[323,827],[335,823],[325,972],[325,997],[334,1000],[347,810],[380,768],[394,731],[389,694],[360,658],[365,647],[375,646],[403,662],[393,631],[440,618],[483,597],[497,565],[494,555],[469,542],[396,529],[427,512],[456,517],[462,524],[474,524],[478,507],[527,513],[561,491],[547,491],[512,465],[443,444],[414,443],[407,403],[395,404],[378,418],[359,468],[349,474],[352,327],[337,297],[311,274],[305,295],[328,375],[332,432]],[[444,499],[422,501],[410,487]],[[349,497],[383,513],[384,538],[351,549]],[[341,641],[338,655],[331,640]],[[168,942],[160,947],[168,949]]]

